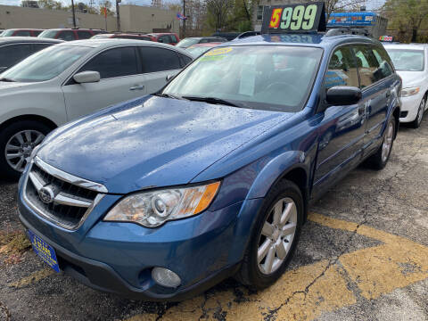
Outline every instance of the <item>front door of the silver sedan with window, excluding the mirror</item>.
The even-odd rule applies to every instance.
[[[98,71],[101,80],[77,84],[70,78],[62,86],[69,120],[146,93],[136,46],[119,46],[97,53],[74,74],[82,71]]]

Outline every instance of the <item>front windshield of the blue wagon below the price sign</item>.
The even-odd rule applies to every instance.
[[[214,48],[183,70],[162,94],[210,97],[253,109],[300,111],[322,53],[320,48],[283,45]]]

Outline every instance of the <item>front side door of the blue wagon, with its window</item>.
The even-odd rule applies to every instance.
[[[359,86],[357,64],[350,46],[336,48],[325,74],[325,91],[333,86]],[[319,124],[314,191],[323,190],[361,160],[365,136],[365,106],[331,106]]]

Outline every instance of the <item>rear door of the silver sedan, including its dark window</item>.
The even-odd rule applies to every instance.
[[[152,94],[167,83],[167,76],[175,75],[183,67],[174,50],[157,46],[138,46],[141,66],[146,77],[147,94]]]

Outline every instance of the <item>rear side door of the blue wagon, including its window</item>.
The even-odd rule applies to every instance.
[[[388,103],[391,97],[391,88],[394,79],[388,56],[381,46],[355,45],[353,47],[357,57],[360,87],[363,92],[363,102],[366,107],[366,137],[365,150],[371,152],[381,138],[385,124]]]

